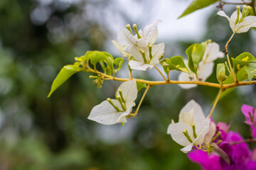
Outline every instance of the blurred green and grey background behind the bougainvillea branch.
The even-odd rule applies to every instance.
[[[232,33],[228,21],[215,14],[218,4],[177,20],[190,2],[1,0],[0,169],[200,169],[166,135],[166,129],[191,99],[201,104],[205,114],[210,113],[218,89],[154,86],[137,118],[130,118],[124,126],[87,120],[92,107],[114,96],[120,82],[105,81],[97,89],[90,74],[81,72],[46,97],[60,68],[87,50],[105,50],[121,57],[111,40],[117,39],[127,23],[143,28],[161,19],[157,42],[165,42],[165,57],[186,58],[184,51],[191,43],[208,39],[223,50]],[[235,6],[224,9],[230,14]],[[255,30],[235,35],[230,56],[256,55],[255,38]],[[127,67],[123,70],[117,75],[127,77]],[[161,79],[154,70],[134,75]],[[171,72],[170,77],[177,79],[178,73]],[[208,81],[217,82],[214,73]],[[219,101],[214,120],[232,122],[231,130],[248,137],[240,108],[242,103],[256,106],[255,96],[255,85],[239,87]]]

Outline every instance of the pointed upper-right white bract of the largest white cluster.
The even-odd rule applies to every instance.
[[[144,39],[146,40],[147,44],[150,43],[151,45],[153,45],[154,42],[156,42],[156,37],[158,35],[157,25],[159,23],[161,23],[161,20],[157,20],[156,22],[145,26],[145,28],[143,29]]]

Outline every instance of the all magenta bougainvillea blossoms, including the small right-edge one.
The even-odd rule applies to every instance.
[[[256,137],[256,108],[243,105],[241,110],[245,115],[245,123],[250,125],[251,136],[249,140],[253,140]],[[230,125],[225,123],[216,125],[216,137],[213,142],[217,144],[217,152],[213,150],[208,154],[208,152],[194,148],[188,153],[188,158],[206,170],[256,169],[256,149],[251,151],[247,141],[238,132],[229,131],[229,128]]]

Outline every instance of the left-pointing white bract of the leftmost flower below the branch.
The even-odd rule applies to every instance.
[[[112,102],[115,106],[122,111],[122,107],[119,101],[112,99]],[[119,120],[119,116],[122,115],[124,112],[117,112],[114,107],[108,101],[102,101],[99,105],[92,108],[88,119],[94,120],[97,123],[101,123],[104,125],[113,125],[115,123],[126,123],[126,118],[123,118],[122,121]]]

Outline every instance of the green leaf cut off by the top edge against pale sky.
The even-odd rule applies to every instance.
[[[188,15],[189,13],[192,13],[193,11],[196,11],[201,8],[205,8],[206,6],[210,6],[211,4],[214,4],[218,0],[193,0],[191,4],[186,8],[186,10],[179,16],[178,18],[181,18],[183,16]]]

